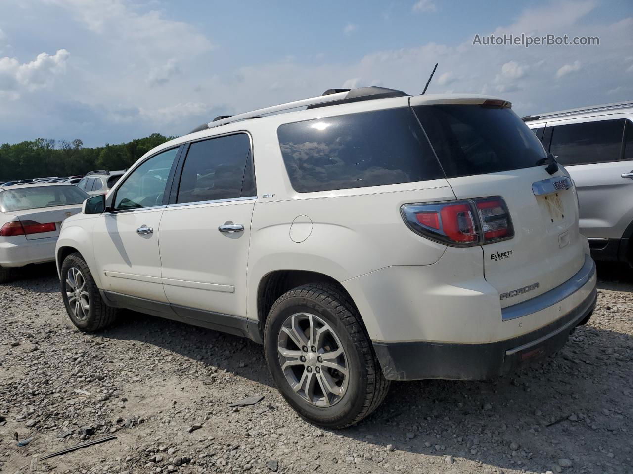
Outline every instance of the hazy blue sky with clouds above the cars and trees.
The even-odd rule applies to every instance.
[[[369,85],[488,94],[520,114],[633,100],[633,2],[0,0],[0,143],[184,135]],[[599,46],[483,46],[491,34]]]

